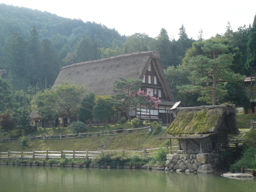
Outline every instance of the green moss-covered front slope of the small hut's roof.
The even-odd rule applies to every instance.
[[[168,134],[205,134],[217,132],[224,118],[225,108],[180,110],[167,129]]]

